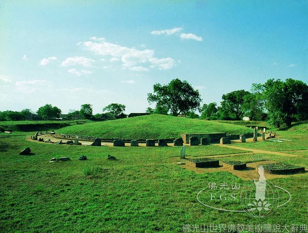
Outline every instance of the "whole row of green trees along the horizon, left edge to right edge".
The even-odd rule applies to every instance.
[[[174,79],[162,85],[156,83],[153,93],[147,95],[150,104],[148,114],[185,116],[205,120],[267,120],[275,127],[290,126],[294,121],[308,119],[308,85],[299,80],[286,81],[269,79],[265,83],[253,83],[250,91],[235,90],[222,96],[220,106],[216,102],[203,104],[198,90],[187,81]],[[65,119],[106,120],[126,117],[126,106],[111,103],[102,109],[103,113],[93,115],[91,104],[82,104],[80,110],[70,110]],[[198,115],[196,112],[199,112]],[[24,109],[20,112],[0,112],[0,120],[31,119],[33,112]],[[36,114],[44,120],[61,118],[62,111],[56,106],[46,104]]]

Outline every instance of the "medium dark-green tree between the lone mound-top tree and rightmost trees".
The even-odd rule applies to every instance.
[[[242,105],[245,95],[250,92],[245,90],[237,90],[222,96],[223,101],[219,108],[220,115],[226,120],[241,120],[243,118]]]

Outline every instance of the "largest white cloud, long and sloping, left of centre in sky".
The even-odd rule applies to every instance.
[[[147,71],[148,68],[140,65],[150,63],[153,67],[159,69],[169,69],[176,65],[176,61],[172,58],[155,58],[154,50],[137,50],[128,48],[111,42],[102,41],[100,43],[93,41],[81,42],[80,45],[84,49],[90,50],[102,56],[111,56],[110,61],[121,59],[123,67],[130,67],[130,70]],[[107,67],[104,67],[107,68]]]

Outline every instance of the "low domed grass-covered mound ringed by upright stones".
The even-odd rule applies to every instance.
[[[96,136],[105,138],[146,139],[177,138],[182,133],[247,134],[250,128],[232,124],[188,119],[175,116],[149,115],[74,125],[57,133]]]

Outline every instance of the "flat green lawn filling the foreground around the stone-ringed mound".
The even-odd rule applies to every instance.
[[[123,127],[122,124],[117,124],[119,121],[99,123],[112,122]],[[98,123],[80,126],[86,128],[93,124]],[[225,127],[225,124],[215,125]],[[75,126],[63,130],[71,127]],[[242,130],[237,127],[235,125],[230,128]],[[128,128],[132,127],[129,125]],[[285,133],[285,137],[298,137],[302,144],[307,143],[306,135],[301,133],[302,127],[299,125],[297,128],[282,133]],[[220,131],[219,128],[212,129]],[[33,132],[17,133],[30,135]],[[198,174],[179,166],[176,162],[184,161],[179,159],[179,147],[55,145],[27,141],[26,136],[14,136],[15,134],[0,137],[1,233],[178,233],[182,232],[184,224],[307,224],[306,174],[286,175],[271,180],[275,185],[288,190],[292,199],[272,215],[255,218],[245,213],[230,214],[201,205],[196,200],[196,195],[200,190],[207,189],[210,182],[218,185],[223,182],[243,185],[247,181],[230,172],[219,171],[219,168],[214,172]],[[248,144],[251,144],[250,148],[266,149],[262,142],[245,145]],[[232,143],[231,146],[239,146],[239,143]],[[292,146],[289,144],[286,148],[300,146],[300,143]],[[30,147],[34,155],[18,155],[25,147]],[[210,158],[211,155],[216,155],[222,161],[247,162],[256,156],[305,166],[306,169],[308,167],[307,154],[290,152],[292,156],[289,157],[266,153],[243,154],[244,152],[249,152],[249,148],[247,151],[217,145],[186,148],[188,158]],[[238,155],[231,156],[233,153]],[[108,154],[118,160],[107,160]],[[86,155],[88,160],[79,161],[78,157],[81,155]],[[71,161],[49,163],[52,157],[63,156],[70,157]],[[222,192],[218,190],[218,193]],[[200,198],[204,199],[210,193],[211,190],[205,190]],[[214,204],[221,205],[221,202],[214,201]],[[239,199],[226,200],[222,205],[234,210],[241,209]]]

